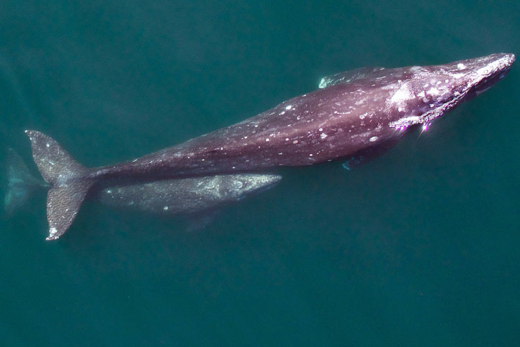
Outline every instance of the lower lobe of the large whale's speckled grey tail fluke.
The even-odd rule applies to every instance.
[[[88,180],[55,185],[47,194],[47,220],[49,221],[49,236],[47,241],[58,239],[71,226],[81,203],[91,184]]]

